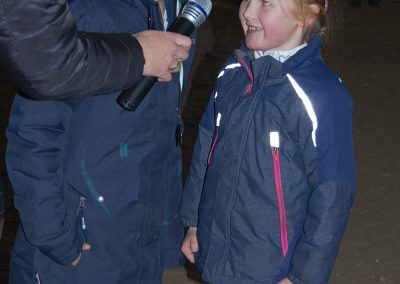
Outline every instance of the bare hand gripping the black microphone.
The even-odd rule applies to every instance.
[[[169,81],[180,62],[189,56],[192,41],[189,37],[172,32],[143,31],[133,35],[144,54],[144,76]]]

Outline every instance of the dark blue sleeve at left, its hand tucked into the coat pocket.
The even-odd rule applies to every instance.
[[[70,265],[80,254],[83,239],[77,231],[79,196],[76,207],[67,207],[64,197],[61,106],[16,96],[7,129],[6,163],[28,242],[55,262]]]

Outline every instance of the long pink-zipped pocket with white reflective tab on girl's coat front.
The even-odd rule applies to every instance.
[[[283,194],[282,176],[281,176],[281,162],[279,158],[279,132],[277,131],[270,132],[269,141],[270,141],[272,162],[274,169],[276,197],[278,200],[278,208],[279,208],[279,224],[280,224],[282,253],[283,256],[286,256],[288,250],[288,233],[286,224],[285,197]]]

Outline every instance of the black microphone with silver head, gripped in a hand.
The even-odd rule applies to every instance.
[[[196,28],[204,23],[210,14],[211,7],[210,0],[189,0],[167,31],[190,36]],[[124,90],[118,96],[118,104],[125,110],[134,111],[157,80],[157,77],[143,77],[138,84]]]

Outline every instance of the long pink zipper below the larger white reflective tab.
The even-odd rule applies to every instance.
[[[272,159],[274,163],[274,178],[275,178],[275,189],[276,196],[278,198],[278,207],[279,207],[279,221],[280,221],[280,229],[281,229],[281,245],[282,245],[282,253],[283,256],[286,256],[288,250],[288,233],[287,233],[287,225],[286,225],[286,208],[285,208],[285,198],[283,196],[283,187],[282,187],[282,177],[281,177],[281,163],[279,159],[279,148],[271,147],[272,151]]]

